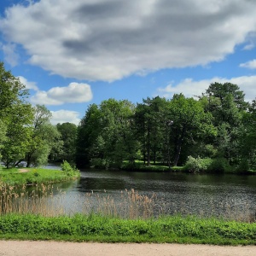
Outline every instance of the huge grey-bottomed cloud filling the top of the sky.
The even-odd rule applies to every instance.
[[[33,65],[113,81],[223,60],[255,32],[255,9],[251,0],[41,0],[7,9],[0,30]]]

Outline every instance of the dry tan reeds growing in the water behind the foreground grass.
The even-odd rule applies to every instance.
[[[32,190],[22,187],[0,185],[0,215],[8,213],[39,214],[44,217],[61,215],[73,216],[76,213],[118,218],[155,218],[166,215],[181,215],[183,217],[195,215],[190,212],[191,206],[181,203],[172,204],[173,209],[166,207],[155,194],[141,195],[135,189],[120,191],[119,196],[110,193],[99,194],[91,191],[84,195],[72,195],[67,198],[65,191],[54,189],[52,184],[37,184]],[[219,214],[219,208],[222,212]],[[199,218],[218,217],[240,222],[256,222],[256,207],[243,202],[238,207],[230,204],[211,203],[207,211],[198,212]]]

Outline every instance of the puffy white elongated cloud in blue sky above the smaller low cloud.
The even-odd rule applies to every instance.
[[[61,105],[64,103],[90,102],[92,92],[89,84],[71,83],[67,87],[53,87],[48,91],[38,90],[31,97],[34,104]]]

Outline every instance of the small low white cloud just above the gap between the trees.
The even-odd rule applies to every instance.
[[[58,110],[58,111],[51,111],[52,118],[50,122],[52,125],[57,125],[58,123],[73,123],[75,125],[79,125],[79,112],[76,111],[69,111],[69,110]]]

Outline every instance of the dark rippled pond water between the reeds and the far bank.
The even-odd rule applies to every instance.
[[[237,218],[256,211],[256,176],[83,170],[80,181],[58,188],[65,191],[62,202],[67,212],[81,212],[84,195],[87,204],[90,197],[92,208],[97,197],[107,195],[122,203],[121,191],[125,189],[149,197],[154,194],[154,214],[182,212]]]

